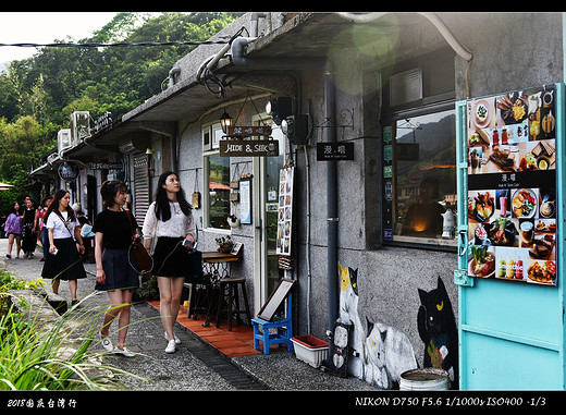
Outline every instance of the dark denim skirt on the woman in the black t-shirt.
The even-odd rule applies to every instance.
[[[102,251],[102,268],[106,273],[103,284],[97,281],[95,289],[98,291],[130,290],[139,286],[139,276],[135,269],[136,258],[131,249]]]

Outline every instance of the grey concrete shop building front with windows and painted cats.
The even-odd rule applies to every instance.
[[[231,272],[253,314],[295,279],[294,331],[325,339],[350,321],[352,376],[389,389],[441,366],[458,387],[456,103],[563,82],[562,14],[247,13],[212,39],[242,27],[61,159],[83,162],[87,197],[123,178],[138,221],[159,174],[179,172],[199,248],[242,244]],[[226,138],[224,114],[271,132]],[[279,151],[231,156],[226,139]]]

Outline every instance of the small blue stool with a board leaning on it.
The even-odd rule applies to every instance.
[[[251,319],[254,326],[254,349],[259,350],[259,342],[263,342],[263,354],[269,354],[271,344],[287,343],[287,350],[293,351],[293,324],[292,324],[292,294],[287,294],[287,312],[286,317],[274,317],[273,321],[267,321],[256,317]],[[261,333],[259,328],[261,327]],[[270,329],[276,329],[275,333],[270,334]]]

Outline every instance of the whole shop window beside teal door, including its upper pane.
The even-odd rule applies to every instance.
[[[455,228],[445,229],[457,206],[454,84],[451,91],[450,82],[431,82],[450,73],[446,62],[411,62],[420,69],[390,78],[382,135],[384,243],[457,246]]]

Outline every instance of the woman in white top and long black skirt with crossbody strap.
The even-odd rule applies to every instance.
[[[69,281],[72,304],[77,302],[77,279],[86,278],[85,268],[78,252],[85,253],[85,245],[81,236],[75,212],[69,206],[71,195],[64,190],[57,191],[53,200],[44,216],[48,229],[49,255],[44,264],[41,277],[51,279],[53,293],[59,294],[60,280]],[[47,218],[47,219],[46,219]]]

